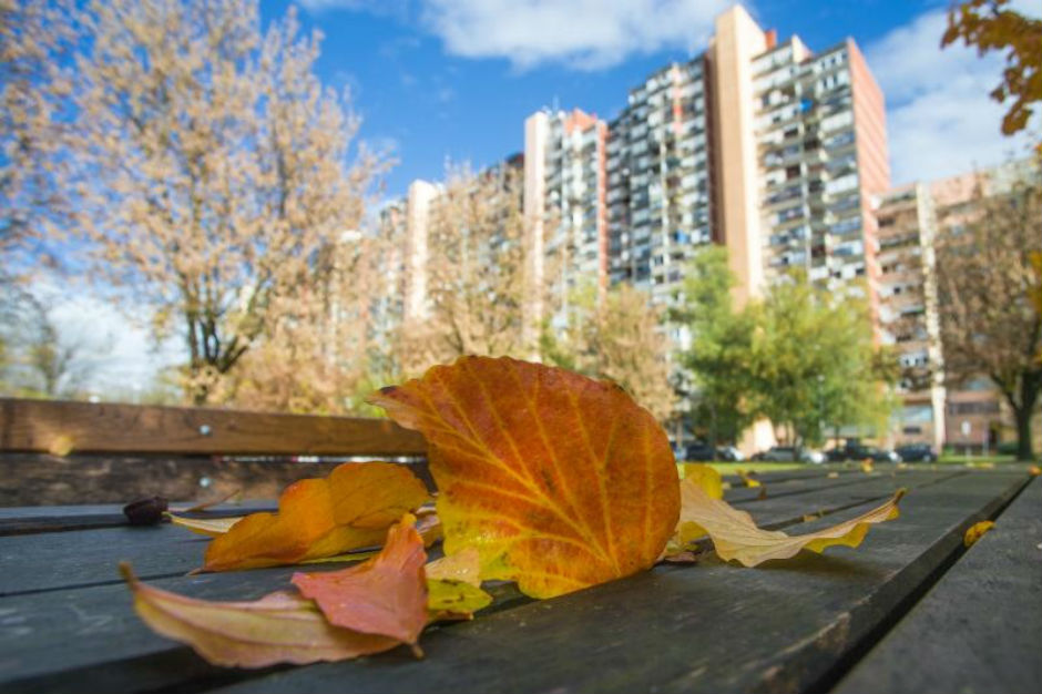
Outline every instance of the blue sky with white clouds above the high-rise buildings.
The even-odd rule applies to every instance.
[[[484,165],[523,146],[522,124],[554,103],[611,118],[629,88],[699,53],[724,0],[302,0],[325,34],[319,76],[348,86],[361,137],[398,164],[382,194],[439,178],[447,159]],[[288,2],[264,0],[265,21]],[[1025,10],[1036,14],[1030,3]],[[757,0],[780,38],[813,50],[852,37],[888,101],[895,183],[997,163],[1021,143],[1000,136],[987,93],[1001,59],[941,51],[947,2]]]

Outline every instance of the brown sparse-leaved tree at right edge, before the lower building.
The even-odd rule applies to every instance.
[[[987,374],[1013,411],[1017,455],[1032,457],[1031,418],[1042,391],[1042,176],[1009,187],[979,176],[962,224],[938,238],[941,343],[950,381]]]

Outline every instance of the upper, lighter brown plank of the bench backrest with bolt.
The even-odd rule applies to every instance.
[[[389,419],[0,398],[0,450],[419,456],[427,445]]]

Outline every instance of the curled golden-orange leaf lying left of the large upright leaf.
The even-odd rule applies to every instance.
[[[217,535],[203,569],[295,564],[379,545],[391,523],[427,499],[427,488],[405,466],[344,463],[328,478],[287,487],[278,513],[252,513]]]

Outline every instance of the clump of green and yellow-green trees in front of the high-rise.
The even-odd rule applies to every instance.
[[[726,249],[706,248],[671,316],[692,333],[682,364],[708,438],[735,440],[759,417],[795,446],[820,445],[828,429],[842,426],[885,427],[896,360],[874,346],[865,302],[837,297],[797,274],[736,310],[733,285]]]

